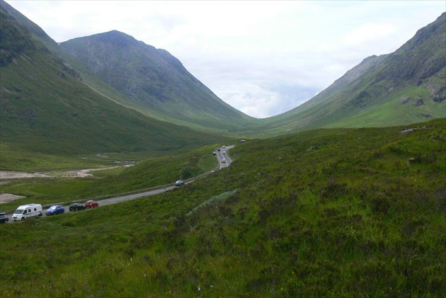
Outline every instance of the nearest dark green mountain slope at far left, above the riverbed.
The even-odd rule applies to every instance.
[[[2,167],[18,149],[45,154],[168,151],[222,136],[150,118],[110,101],[51,49],[57,43],[1,1],[0,144]]]

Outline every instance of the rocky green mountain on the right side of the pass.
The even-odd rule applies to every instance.
[[[269,118],[272,134],[383,127],[446,117],[446,13],[398,50],[364,59],[299,107]]]

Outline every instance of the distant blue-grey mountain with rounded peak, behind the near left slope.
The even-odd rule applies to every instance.
[[[60,43],[103,81],[163,118],[221,130],[258,122],[215,96],[166,50],[117,30]],[[128,103],[128,101],[127,101]]]

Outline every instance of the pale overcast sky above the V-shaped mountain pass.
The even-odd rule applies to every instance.
[[[446,11],[444,0],[6,2],[56,42],[118,30],[167,50],[256,118],[297,107]]]

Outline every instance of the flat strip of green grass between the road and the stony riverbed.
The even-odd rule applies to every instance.
[[[13,193],[24,195],[25,198],[1,204],[2,210],[15,210],[18,205],[31,202],[42,205],[56,204],[60,202],[72,202],[86,200],[86,198],[100,199],[104,196],[117,195],[119,193],[134,192],[152,188],[157,185],[175,183],[176,180],[187,180],[203,173],[214,170],[217,167],[217,159],[212,156],[212,151],[217,145],[210,145],[190,152],[171,152],[152,156],[139,162],[135,166],[107,168],[101,171],[92,171],[93,176],[84,178],[57,177],[56,172],[52,178],[22,178],[8,179],[2,181],[0,193]],[[108,154],[103,159],[117,157]],[[120,157],[132,157],[130,155],[119,155]],[[97,156],[96,156],[97,159]],[[73,159],[73,161],[76,161]],[[86,168],[95,164],[106,163],[107,167],[116,166],[111,160],[98,161],[81,159]],[[77,161],[76,166],[80,166]],[[47,164],[47,166],[50,164]],[[75,164],[67,164],[75,166]],[[96,164],[98,166],[99,164]],[[101,165],[103,166],[103,165]],[[73,168],[70,168],[73,169]],[[76,168],[79,169],[79,168]],[[55,171],[55,169],[53,169]],[[47,172],[45,172],[47,173]],[[51,174],[47,173],[47,174]]]

